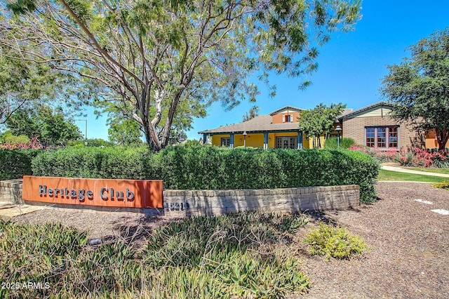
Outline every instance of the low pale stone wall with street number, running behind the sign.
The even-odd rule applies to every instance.
[[[22,203],[22,180],[0,182],[0,201]],[[358,185],[301,187],[257,190],[164,190],[163,208],[104,208],[71,204],[46,204],[29,201],[27,204],[61,208],[94,209],[95,211],[133,211],[146,215],[189,217],[192,215],[220,215],[232,211],[327,211],[359,206]]]

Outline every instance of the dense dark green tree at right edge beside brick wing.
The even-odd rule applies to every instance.
[[[436,131],[438,149],[449,140],[449,31],[410,46],[411,58],[388,67],[381,92],[397,104],[392,116],[417,131]]]

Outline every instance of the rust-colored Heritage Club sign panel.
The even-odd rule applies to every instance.
[[[22,198],[52,204],[162,208],[162,180],[51,178],[24,175]]]

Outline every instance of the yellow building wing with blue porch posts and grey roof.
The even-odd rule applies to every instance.
[[[260,115],[249,121],[230,126],[221,126],[206,131],[203,140],[211,138],[212,145],[221,147],[261,147],[267,148],[309,148],[309,140],[304,140],[299,130],[297,118],[304,110],[285,106],[268,115]]]

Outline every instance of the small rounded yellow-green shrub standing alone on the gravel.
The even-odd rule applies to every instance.
[[[319,227],[306,234],[304,243],[311,255],[326,255],[326,260],[349,260],[368,251],[365,241],[354,236],[344,227],[332,227],[320,222]]]

